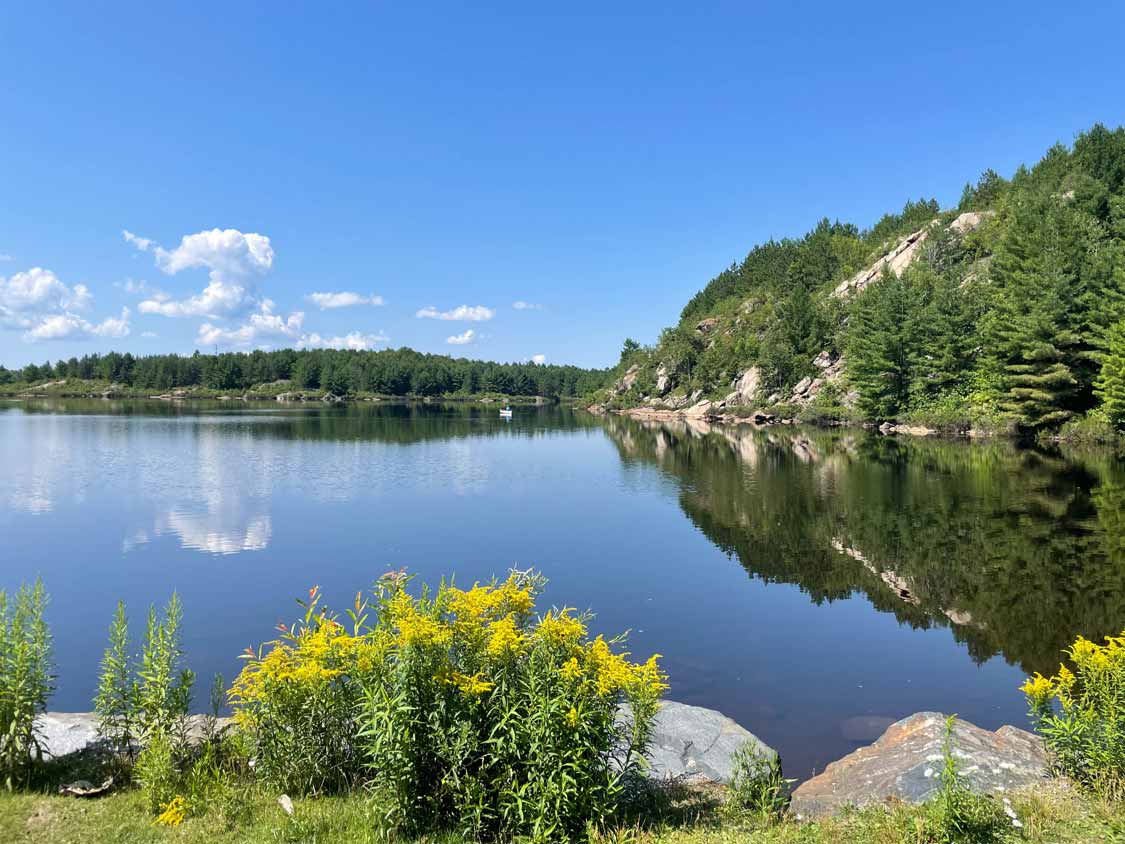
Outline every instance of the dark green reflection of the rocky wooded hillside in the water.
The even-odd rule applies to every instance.
[[[627,463],[656,464],[716,545],[813,601],[862,592],[978,661],[1053,671],[1076,634],[1125,626],[1125,467],[1009,442],[711,428],[622,417]]]

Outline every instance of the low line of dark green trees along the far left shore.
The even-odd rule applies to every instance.
[[[608,370],[547,363],[494,363],[413,349],[382,351],[227,352],[223,354],[86,354],[81,358],[0,367],[0,384],[52,379],[102,380],[152,390],[207,387],[237,390],[291,381],[295,389],[349,395],[441,396],[501,393],[512,396],[582,396],[605,385]]]

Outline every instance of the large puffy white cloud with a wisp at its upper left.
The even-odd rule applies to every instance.
[[[209,270],[209,284],[200,293],[180,300],[153,296],[137,306],[143,314],[214,320],[245,312],[260,302],[252,288],[253,279],[273,267],[270,239],[252,232],[244,234],[236,228],[186,234],[180,245],[172,250],[127,230],[122,235],[142,252],[151,251],[156,267],[169,276],[187,269]]]

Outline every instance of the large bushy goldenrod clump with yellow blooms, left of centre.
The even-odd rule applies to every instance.
[[[600,824],[642,764],[665,688],[656,657],[629,662],[566,609],[537,618],[538,576],[418,598],[407,583],[379,582],[371,623],[357,596],[350,630],[314,589],[304,618],[250,655],[232,700],[256,770],[306,792],[362,774],[380,824],[411,834],[565,838]]]

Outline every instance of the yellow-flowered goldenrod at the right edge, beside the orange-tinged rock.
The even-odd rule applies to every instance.
[[[1079,636],[1065,653],[1073,667],[1060,665],[1054,676],[1036,674],[1022,686],[1032,720],[1063,773],[1125,797],[1125,632],[1105,645]]]

